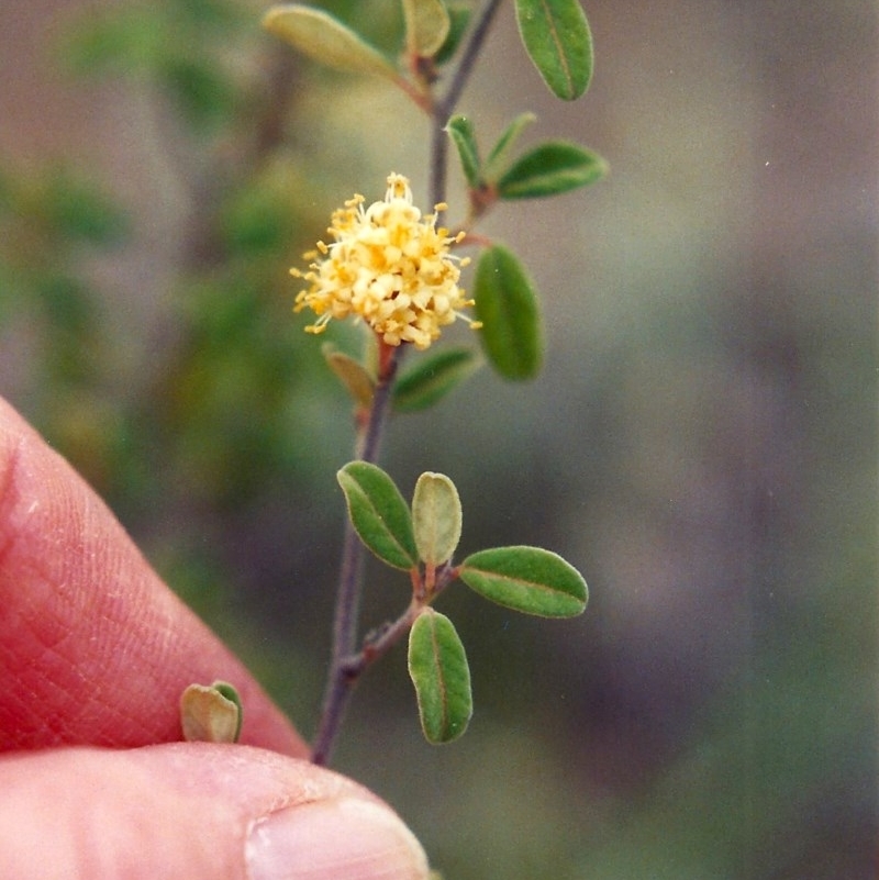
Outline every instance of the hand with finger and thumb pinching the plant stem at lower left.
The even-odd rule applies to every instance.
[[[180,743],[232,682],[241,745]],[[108,509],[0,400],[3,877],[422,880],[423,850],[308,748]]]

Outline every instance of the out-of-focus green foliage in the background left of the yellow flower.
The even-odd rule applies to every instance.
[[[0,186],[4,309],[40,335],[30,414],[123,519],[155,516],[159,500],[241,504],[279,479],[301,477],[307,491],[322,446],[294,411],[325,379],[291,345],[285,297],[315,190],[283,138],[285,108],[267,103],[265,70],[294,73],[258,36],[247,4],[167,0],[94,11],[65,42],[75,74],[152,88],[171,113],[167,136],[200,156],[170,314],[151,328],[158,359],[133,385],[113,387],[123,341],[104,331],[105,303],[77,257],[124,245],[136,218],[74,168],[30,182],[8,171]],[[272,97],[294,103],[289,87]],[[310,235],[322,221],[305,222]]]

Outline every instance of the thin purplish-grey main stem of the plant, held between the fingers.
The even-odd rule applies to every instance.
[[[445,125],[452,114],[464,87],[472,73],[476,59],[488,35],[494,13],[501,0],[487,0],[479,13],[470,37],[461,53],[458,66],[452,76],[448,89],[442,100],[431,110],[431,198],[433,204],[445,201],[446,166],[448,141]],[[360,459],[375,464],[378,460],[381,436],[390,411],[391,390],[397,366],[402,357],[402,346],[397,347],[389,360],[388,369],[379,376],[369,419],[361,437]],[[360,594],[363,592],[364,546],[351,521],[345,525],[342,548],[338,591],[336,593],[335,616],[333,620],[333,655],[330,675],[324,691],[321,720],[311,753],[313,764],[326,765],[333,750],[345,710],[351,700],[354,686],[363,671],[392,644],[398,642],[414,621],[419,604],[414,603],[386,631],[370,648],[357,653],[357,630],[359,621]]]

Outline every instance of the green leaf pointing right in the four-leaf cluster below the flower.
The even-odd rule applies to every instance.
[[[574,617],[586,609],[580,572],[539,547],[496,547],[468,556],[458,577],[499,605],[541,617]]]

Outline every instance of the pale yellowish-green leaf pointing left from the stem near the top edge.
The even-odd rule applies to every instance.
[[[263,26],[327,67],[397,78],[393,65],[378,49],[323,10],[299,3],[271,7]]]

